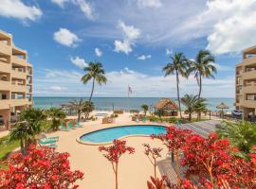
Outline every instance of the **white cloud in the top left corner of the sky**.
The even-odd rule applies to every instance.
[[[21,0],[1,0],[0,16],[16,18],[23,21],[36,21],[43,15],[41,9],[27,6]]]

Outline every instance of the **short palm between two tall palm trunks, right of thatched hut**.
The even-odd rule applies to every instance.
[[[187,107],[186,112],[189,113],[189,120],[192,121],[192,112],[196,110],[198,103],[197,95],[186,94],[181,98],[181,103]]]

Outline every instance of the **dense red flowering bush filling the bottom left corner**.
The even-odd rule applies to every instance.
[[[27,155],[13,154],[9,169],[0,169],[0,188],[40,189],[77,188],[76,180],[82,180],[81,171],[71,171],[68,153],[54,149],[30,146]]]

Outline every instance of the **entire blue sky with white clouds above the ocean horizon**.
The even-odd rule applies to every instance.
[[[0,29],[27,50],[35,96],[88,96],[82,67],[101,61],[108,79],[95,96],[176,96],[162,68],[176,52],[215,56],[205,97],[234,97],[234,68],[256,44],[256,0],[1,0]],[[181,94],[198,94],[193,76]]]

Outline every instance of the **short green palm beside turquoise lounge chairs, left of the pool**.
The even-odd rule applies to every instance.
[[[51,129],[53,130],[59,129],[62,120],[64,120],[66,116],[61,109],[57,108],[50,108],[46,111],[46,114],[51,118]]]

